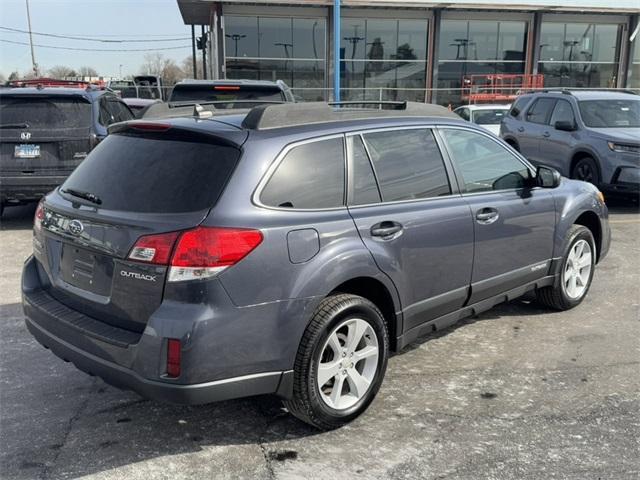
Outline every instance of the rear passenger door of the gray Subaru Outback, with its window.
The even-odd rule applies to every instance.
[[[404,331],[460,308],[473,260],[473,222],[449,181],[430,128],[349,135],[349,212],[398,289]]]

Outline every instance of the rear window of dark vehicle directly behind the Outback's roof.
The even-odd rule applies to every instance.
[[[275,87],[214,86],[214,85],[176,85],[171,92],[171,102],[243,102],[247,106],[250,100],[282,102],[285,100],[282,91]],[[257,104],[257,103],[256,103]],[[250,106],[250,105],[249,105]]]

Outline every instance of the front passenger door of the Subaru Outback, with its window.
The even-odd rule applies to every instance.
[[[556,223],[551,192],[531,187],[529,167],[498,139],[455,127],[439,132],[473,215],[469,303],[547,275]]]

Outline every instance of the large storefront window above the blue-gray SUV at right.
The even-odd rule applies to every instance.
[[[621,26],[543,22],[538,72],[546,87],[613,88]]]

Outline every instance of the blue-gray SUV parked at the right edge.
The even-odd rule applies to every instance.
[[[610,91],[522,95],[500,136],[535,165],[607,192],[640,193],[640,97]]]

